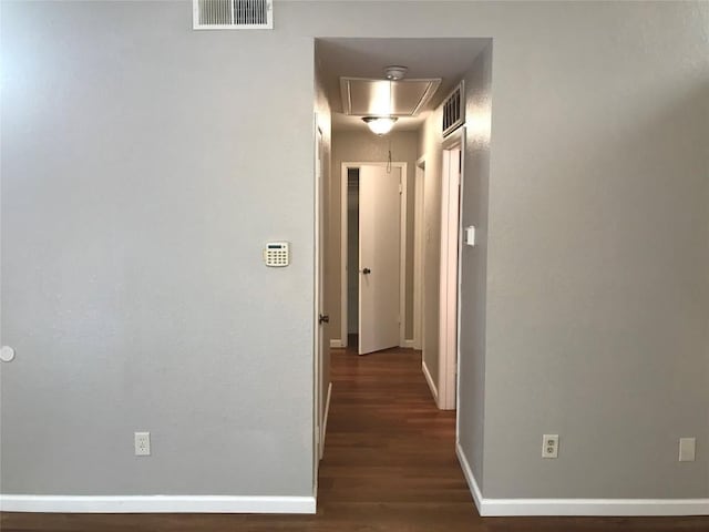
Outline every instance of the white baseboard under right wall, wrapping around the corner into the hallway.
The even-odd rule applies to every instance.
[[[485,499],[460,443],[455,453],[483,518],[523,515],[682,516],[709,515],[709,499]]]

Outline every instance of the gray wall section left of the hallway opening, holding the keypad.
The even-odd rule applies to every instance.
[[[312,493],[314,42],[288,19],[2,2],[4,493]]]

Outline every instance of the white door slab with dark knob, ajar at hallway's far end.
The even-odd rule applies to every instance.
[[[359,170],[359,354],[399,346],[401,168]]]

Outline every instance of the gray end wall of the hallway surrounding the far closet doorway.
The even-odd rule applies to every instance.
[[[391,133],[392,161],[407,163],[407,294],[405,294],[405,338],[413,338],[413,201],[417,162],[417,139],[414,131]],[[330,194],[330,239],[328,269],[328,300],[330,330],[332,338],[341,336],[341,167],[345,162],[387,161],[389,137],[377,136],[370,132],[336,131],[332,134],[332,178]],[[349,311],[349,310],[348,310]]]

